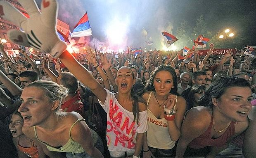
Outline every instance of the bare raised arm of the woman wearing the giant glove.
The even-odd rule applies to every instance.
[[[95,55],[87,49],[88,55],[95,57]],[[92,74],[83,67],[67,50],[65,50],[59,59],[63,62],[63,64],[69,69],[71,73],[78,80],[80,80],[85,86],[89,87],[92,90],[92,93],[97,96],[103,103],[106,100],[107,92],[104,87],[102,87],[92,76]]]

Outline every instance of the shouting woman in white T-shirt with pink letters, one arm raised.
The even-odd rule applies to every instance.
[[[96,58],[90,48],[85,54],[90,55],[92,59]],[[128,157],[140,157],[143,133],[147,131],[147,105],[133,92],[133,71],[126,66],[118,70],[115,79],[118,92],[114,94],[104,89],[70,53],[64,52],[60,59],[78,80],[92,90],[107,112],[106,137],[110,156],[124,158],[126,153]],[[106,54],[101,54],[101,60],[102,68],[109,80],[113,79],[111,63],[107,60]],[[96,69],[101,69],[99,64],[93,64]]]

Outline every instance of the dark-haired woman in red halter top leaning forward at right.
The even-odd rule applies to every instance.
[[[175,158],[183,158],[184,153],[193,155],[190,151],[202,148],[209,149],[206,158],[214,158],[232,138],[247,129],[251,100],[251,87],[247,80],[226,77],[213,82],[199,99],[203,106],[187,112]]]

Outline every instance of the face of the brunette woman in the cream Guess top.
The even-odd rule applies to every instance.
[[[169,71],[159,71],[154,78],[154,88],[158,95],[168,95],[173,88],[173,76]]]

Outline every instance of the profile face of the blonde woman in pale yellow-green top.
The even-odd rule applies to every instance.
[[[18,111],[24,119],[25,127],[41,124],[52,113],[52,105],[44,91],[38,87],[25,87],[21,94],[21,105]]]

